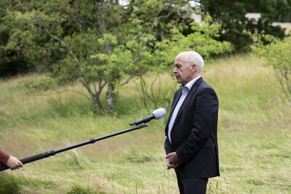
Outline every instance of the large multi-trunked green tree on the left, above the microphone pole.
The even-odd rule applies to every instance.
[[[100,93],[107,84],[108,109],[113,109],[114,87],[122,78],[120,68],[126,64],[113,66],[90,56],[116,55],[117,43],[125,41],[121,35],[117,41],[120,21],[127,17],[124,12],[116,1],[31,0],[14,4],[4,17],[13,26],[5,48],[18,47],[38,70],[48,72],[46,83],[50,85],[45,89],[52,84],[81,82],[95,112],[104,110]]]

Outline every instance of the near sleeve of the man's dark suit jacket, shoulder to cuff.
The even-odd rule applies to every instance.
[[[218,98],[215,91],[211,87],[200,90],[193,108],[190,134],[176,149],[177,156],[183,163],[200,150],[215,128],[218,117]]]

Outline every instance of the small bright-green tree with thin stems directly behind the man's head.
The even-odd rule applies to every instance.
[[[166,108],[169,107],[171,96],[168,95],[168,92],[162,94],[160,90],[154,94],[153,82],[157,80],[159,73],[168,70],[167,67],[169,64],[173,65],[173,59],[177,53],[185,50],[195,50],[201,54],[205,61],[207,61],[210,60],[211,56],[214,54],[218,55],[224,52],[230,52],[229,42],[220,42],[214,39],[214,37],[218,36],[220,25],[218,23],[213,23],[209,15],[205,16],[201,23],[192,21],[189,26],[193,31],[192,33],[183,35],[182,31],[179,29],[172,28],[168,37],[165,37],[160,42],[156,42],[154,56],[158,59],[157,63],[159,65],[156,66],[156,76],[150,84],[150,89],[147,88],[146,82],[143,79],[143,74],[138,75],[140,80],[139,89],[145,106],[146,99],[149,99],[153,102],[155,108],[160,105]]]

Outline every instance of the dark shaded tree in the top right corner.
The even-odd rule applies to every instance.
[[[276,16],[291,9],[291,0],[199,0],[203,11],[208,11],[214,21],[221,24],[218,40],[232,43],[233,51],[247,51],[252,43],[243,30],[254,32],[264,30],[268,34],[283,38],[284,31],[272,26]],[[261,18],[248,19],[247,12],[258,12]]]

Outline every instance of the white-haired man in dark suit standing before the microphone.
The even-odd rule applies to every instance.
[[[201,77],[204,61],[194,51],[179,53],[175,92],[164,142],[167,168],[174,168],[180,193],[205,193],[209,177],[219,176],[218,98]]]

